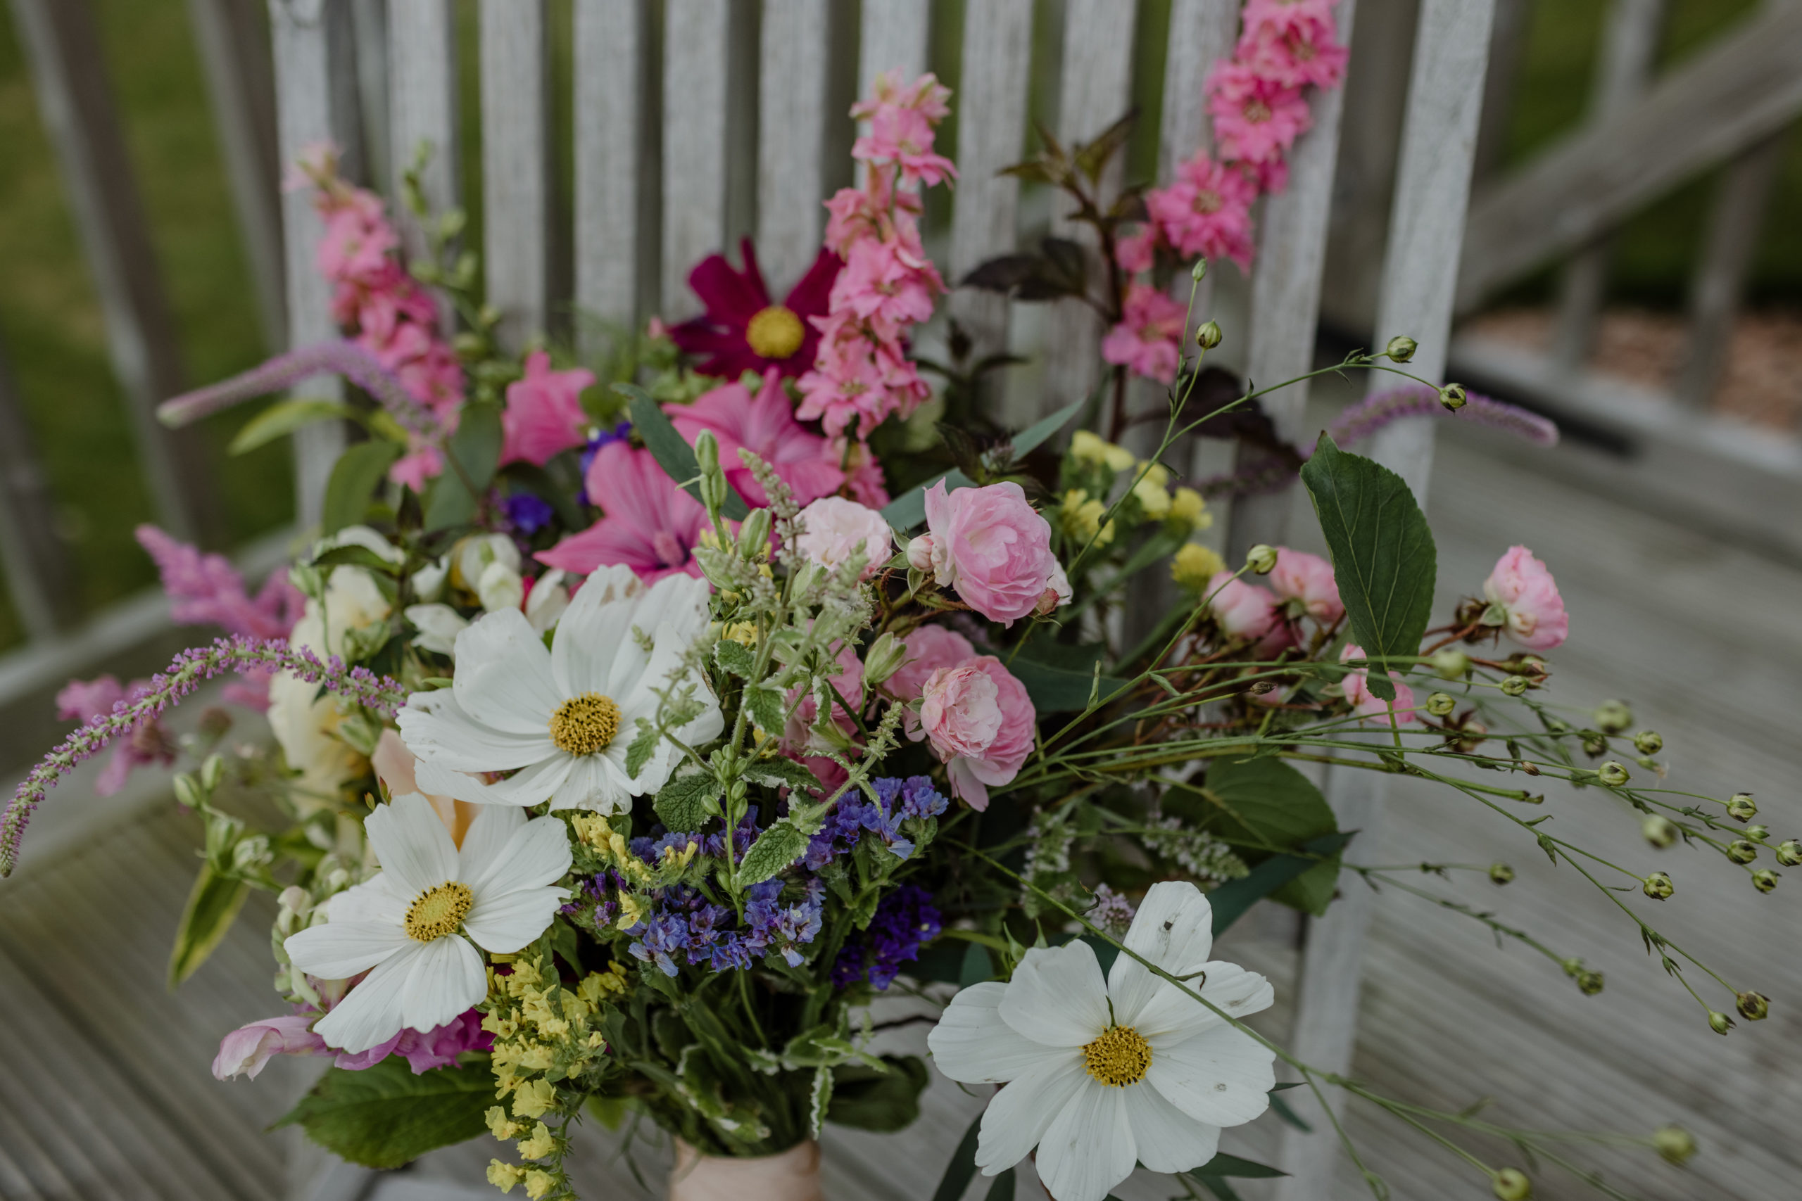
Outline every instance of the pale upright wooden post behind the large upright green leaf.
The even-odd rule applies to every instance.
[[[1411,371],[1427,380],[1440,380],[1445,371],[1492,5],[1494,0],[1424,0],[1415,36],[1402,160],[1377,304],[1377,346],[1397,333],[1413,337],[1420,348]],[[1371,391],[1391,385],[1393,376],[1371,373]],[[1368,454],[1402,475],[1425,502],[1433,418],[1384,429]],[[1380,861],[1375,843],[1384,794],[1386,781],[1377,772],[1330,769],[1326,774],[1326,798],[1339,828],[1359,830],[1348,855],[1361,862]],[[1290,1050],[1323,1071],[1344,1073],[1352,1066],[1373,897],[1368,888],[1346,888],[1326,917],[1308,922]],[[1297,1104],[1305,1118],[1314,1118],[1315,1133],[1283,1131],[1283,1167],[1290,1178],[1281,1181],[1278,1196],[1303,1201],[1330,1194],[1339,1143],[1312,1098]]]

